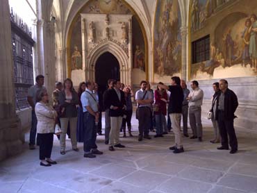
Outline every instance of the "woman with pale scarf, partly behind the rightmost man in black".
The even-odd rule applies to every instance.
[[[219,83],[213,83],[213,90],[215,93],[213,94],[212,107],[210,109],[210,112],[208,112],[208,119],[211,119],[211,121],[213,122],[215,138],[214,138],[214,140],[210,140],[210,142],[214,144],[214,143],[219,143],[219,141],[220,141],[219,125],[217,123],[217,120],[215,119],[215,112],[216,112],[216,108],[217,108],[217,105],[216,105],[217,96],[220,92]]]

